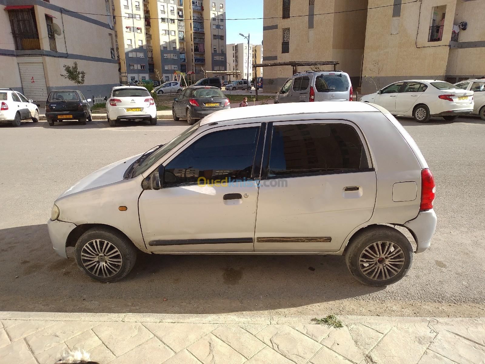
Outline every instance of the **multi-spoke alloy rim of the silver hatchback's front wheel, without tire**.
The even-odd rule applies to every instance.
[[[118,248],[102,239],[88,241],[81,249],[82,265],[93,275],[102,278],[113,277],[123,265]]]

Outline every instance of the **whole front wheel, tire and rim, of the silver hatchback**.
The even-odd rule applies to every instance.
[[[93,228],[83,233],[74,253],[84,274],[105,283],[126,277],[136,262],[133,243],[122,233],[106,228]]]

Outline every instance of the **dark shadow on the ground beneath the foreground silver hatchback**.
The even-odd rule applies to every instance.
[[[46,224],[0,230],[0,286],[2,311],[172,314],[278,310],[384,289],[358,283],[331,255],[139,252],[128,277],[100,283],[53,251]]]

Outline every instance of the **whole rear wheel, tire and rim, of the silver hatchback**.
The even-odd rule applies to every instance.
[[[386,225],[376,226],[352,237],[345,261],[357,281],[382,287],[406,275],[413,262],[413,247],[403,233]]]

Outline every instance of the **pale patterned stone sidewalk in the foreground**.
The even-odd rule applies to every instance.
[[[0,312],[0,364],[53,364],[80,348],[101,364],[479,364],[484,318]]]

